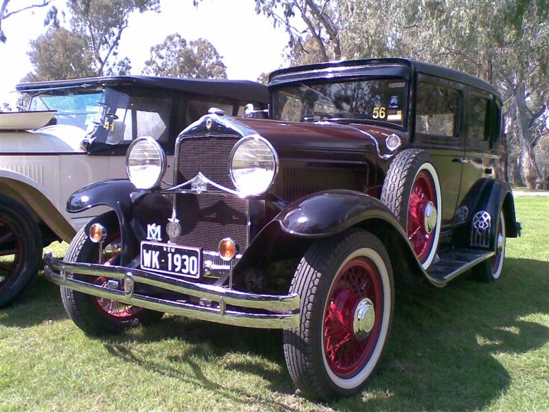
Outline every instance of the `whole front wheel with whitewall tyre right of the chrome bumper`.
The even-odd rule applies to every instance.
[[[296,387],[320,400],[359,391],[379,363],[393,319],[393,273],[382,242],[351,229],[314,243],[290,291],[301,296],[299,330],[284,330]]]

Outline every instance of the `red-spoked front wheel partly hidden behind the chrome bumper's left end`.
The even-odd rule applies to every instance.
[[[104,264],[117,264],[120,253],[120,236],[118,222],[112,215],[97,218],[109,233],[103,244],[101,257]],[[91,242],[84,227],[76,233],[72,240],[65,260],[71,262],[97,263],[100,261],[99,247]],[[91,281],[97,285],[106,284],[105,277],[91,278],[84,275],[69,275],[75,279]],[[95,297],[75,290],[61,287],[61,299],[67,314],[73,322],[86,334],[99,335],[105,333],[117,333],[139,323],[151,323],[160,319],[161,312],[147,310],[137,306],[121,304],[117,301]]]

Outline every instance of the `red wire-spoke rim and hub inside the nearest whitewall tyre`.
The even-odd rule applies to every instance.
[[[324,312],[323,348],[331,369],[349,378],[370,358],[383,310],[379,273],[364,258],[354,258],[336,275]]]

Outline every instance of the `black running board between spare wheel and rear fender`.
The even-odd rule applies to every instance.
[[[428,268],[428,275],[441,283],[446,283],[480,262],[491,258],[494,251],[459,249],[439,253],[439,262]]]

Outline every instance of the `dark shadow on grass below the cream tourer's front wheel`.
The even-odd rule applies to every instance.
[[[31,328],[43,323],[67,319],[61,303],[59,286],[39,275],[34,284],[12,306],[0,310],[0,324],[7,327]]]

